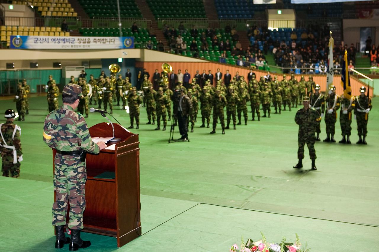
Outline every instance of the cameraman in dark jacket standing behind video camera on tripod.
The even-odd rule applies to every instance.
[[[176,91],[176,90],[175,90]],[[177,120],[179,124],[179,132],[180,135],[182,135],[181,138],[178,140],[183,140],[186,141],[188,138],[188,127],[187,127],[187,120],[188,120],[188,115],[189,112],[193,109],[192,108],[192,103],[191,103],[191,98],[189,98],[185,93],[184,89],[181,88],[179,90],[180,95],[179,95],[179,102],[177,104],[177,109],[175,111],[177,112]]]

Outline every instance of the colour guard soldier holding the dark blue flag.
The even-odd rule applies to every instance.
[[[345,98],[345,95],[340,97],[340,125],[342,132],[342,140],[339,143],[348,143],[350,144],[350,135],[351,135],[351,114],[352,110],[355,107],[354,96],[351,96],[350,99]]]

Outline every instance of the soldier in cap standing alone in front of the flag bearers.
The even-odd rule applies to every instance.
[[[308,146],[309,157],[312,160],[312,170],[317,170],[315,165],[316,160],[316,150],[315,150],[315,131],[316,123],[321,121],[321,117],[318,112],[309,106],[309,97],[305,96],[303,98],[304,107],[299,109],[295,115],[295,122],[299,125],[298,134],[298,159],[299,162],[293,168],[302,168],[304,159],[304,145]]]

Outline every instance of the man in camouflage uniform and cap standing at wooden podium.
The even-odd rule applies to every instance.
[[[85,155],[99,153],[106,147],[104,142],[92,142],[86,120],[75,112],[78,107],[82,89],[78,84],[67,84],[62,92],[62,107],[47,115],[43,130],[44,142],[56,149],[54,159],[54,190],[52,224],[56,230],[55,247],[62,248],[69,244],[69,250],[89,247],[90,241],[80,238],[83,229],[83,212],[86,208],[85,183],[87,178]],[[71,239],[64,235],[67,202],[70,203],[69,224]]]

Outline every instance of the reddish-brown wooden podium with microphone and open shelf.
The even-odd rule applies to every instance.
[[[113,124],[114,136],[121,138],[114,150],[87,153],[86,210],[83,232],[117,238],[117,247],[141,235],[141,203],[139,200],[138,134]],[[99,123],[89,128],[91,137],[112,137],[112,126]],[[113,143],[108,142],[110,146]],[[55,156],[53,149],[53,157]],[[114,172],[114,179],[96,178],[103,172]],[[55,193],[54,193],[55,194]],[[54,195],[55,199],[55,195]],[[67,210],[67,223],[68,224]]]

